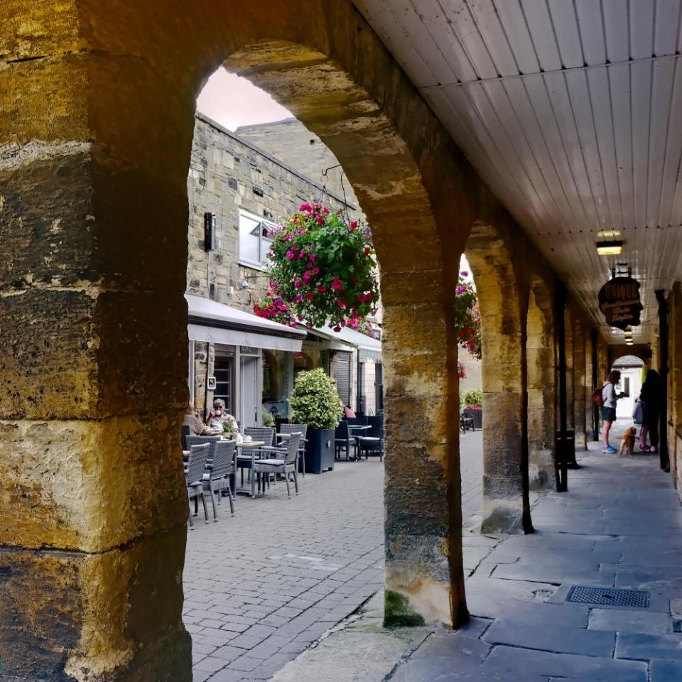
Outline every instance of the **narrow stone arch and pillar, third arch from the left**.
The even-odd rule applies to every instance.
[[[526,318],[528,367],[529,485],[555,489],[556,343],[551,292],[538,276],[531,282]]]

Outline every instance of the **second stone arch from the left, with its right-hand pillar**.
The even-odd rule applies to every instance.
[[[504,233],[472,227],[467,247],[481,311],[483,375],[482,532],[531,531],[528,495],[526,311]]]

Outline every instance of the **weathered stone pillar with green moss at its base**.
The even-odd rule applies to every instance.
[[[440,275],[398,267],[381,270],[385,623],[457,627],[467,618],[459,421],[453,418],[459,401],[457,339],[443,324]],[[428,291],[434,298],[425,303],[421,298]]]

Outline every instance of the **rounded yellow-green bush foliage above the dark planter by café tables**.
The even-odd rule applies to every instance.
[[[336,385],[319,367],[298,374],[289,404],[291,421],[309,428],[335,428],[343,416]]]

